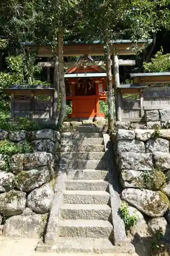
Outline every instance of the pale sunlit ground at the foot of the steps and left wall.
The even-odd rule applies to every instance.
[[[20,240],[9,240],[0,237],[0,255],[4,256],[55,256],[56,252],[36,252],[34,251],[38,239],[20,239]],[[86,253],[60,253],[59,256],[88,256]],[[90,256],[138,256],[136,253],[133,254],[91,254]]]

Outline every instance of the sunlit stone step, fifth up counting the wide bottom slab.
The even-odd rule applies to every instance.
[[[103,180],[67,180],[66,190],[107,191],[108,181]]]

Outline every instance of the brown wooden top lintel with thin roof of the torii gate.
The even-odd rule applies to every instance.
[[[136,45],[139,50],[144,50],[148,44],[151,44],[150,40],[138,40],[133,42],[131,40],[113,40],[110,41],[110,54],[114,54],[115,48],[119,55],[135,55]],[[39,57],[52,57],[52,45],[41,45],[35,44],[34,42],[23,42],[22,46],[30,50],[35,48],[37,51],[37,56]],[[135,47],[133,47],[135,46]],[[57,46],[55,51],[57,52]],[[91,55],[91,56],[102,56],[105,54],[104,41],[65,41],[63,47],[64,56],[81,56],[81,55]]]

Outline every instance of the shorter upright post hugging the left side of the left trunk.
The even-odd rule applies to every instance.
[[[56,90],[53,96],[53,118],[58,119],[59,92],[60,92],[58,56],[55,57],[55,63],[54,63],[54,88]]]

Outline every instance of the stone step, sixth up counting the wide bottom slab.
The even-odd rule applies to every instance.
[[[108,171],[94,170],[94,169],[84,169],[84,170],[70,169],[67,171],[67,179],[108,180]]]

